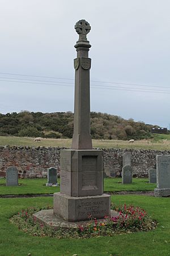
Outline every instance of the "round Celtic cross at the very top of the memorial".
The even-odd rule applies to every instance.
[[[75,24],[75,31],[79,34],[79,40],[87,40],[87,33],[90,32],[91,27],[85,19],[81,19]]]

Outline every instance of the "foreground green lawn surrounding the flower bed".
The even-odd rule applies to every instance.
[[[144,208],[158,227],[150,232],[137,232],[113,237],[62,239],[33,237],[11,224],[9,219],[28,207],[52,205],[52,197],[0,199],[0,255],[169,255],[170,198],[141,195],[113,195],[115,204],[133,204]]]

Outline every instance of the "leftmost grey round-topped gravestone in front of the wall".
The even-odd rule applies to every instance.
[[[18,186],[18,170],[14,166],[6,170],[6,186]]]

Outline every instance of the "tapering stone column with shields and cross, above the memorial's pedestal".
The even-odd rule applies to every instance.
[[[75,68],[75,94],[74,94],[74,133],[72,149],[92,149],[90,135],[90,68],[91,58],[88,51],[91,47],[87,40],[87,33],[91,27],[86,20],[79,20],[75,24],[79,40],[74,46],[77,58],[74,60]]]

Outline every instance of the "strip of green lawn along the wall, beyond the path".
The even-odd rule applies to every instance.
[[[59,192],[58,187],[46,187],[46,178],[37,179],[19,179],[20,186],[5,186],[5,179],[0,179],[1,195],[35,195],[35,194],[53,194]],[[58,179],[59,182],[59,179]],[[105,178],[104,191],[153,191],[156,184],[148,183],[146,178],[133,178],[131,184],[122,184],[121,178]]]

